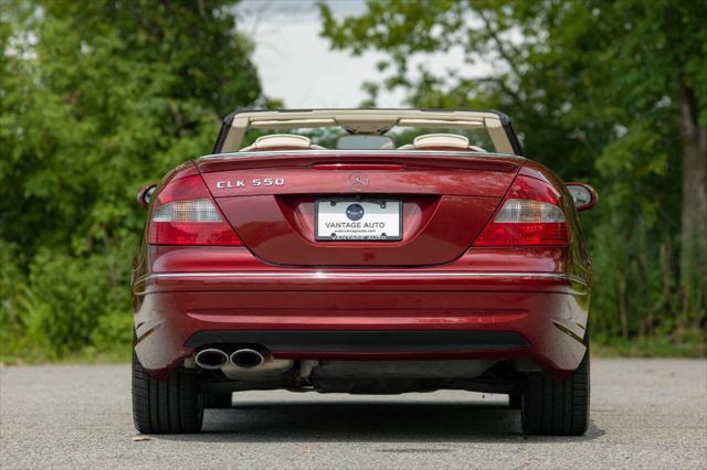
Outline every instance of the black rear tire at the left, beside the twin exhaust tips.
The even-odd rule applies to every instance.
[[[193,434],[201,430],[203,399],[194,371],[175,368],[152,377],[133,350],[133,421],[141,434]]]

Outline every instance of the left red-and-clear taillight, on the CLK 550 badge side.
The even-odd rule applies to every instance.
[[[173,180],[156,195],[147,243],[242,245],[199,174]]]

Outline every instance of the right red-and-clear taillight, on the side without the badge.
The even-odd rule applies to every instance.
[[[560,207],[560,194],[545,181],[520,174],[474,246],[567,244],[567,224]]]

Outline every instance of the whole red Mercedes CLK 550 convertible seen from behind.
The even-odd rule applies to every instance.
[[[502,113],[234,113],[138,201],[140,432],[276,388],[507,394],[528,435],[587,430],[597,195]]]

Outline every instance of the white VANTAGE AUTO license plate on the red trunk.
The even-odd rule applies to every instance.
[[[315,203],[315,239],[402,239],[402,201],[325,199]]]

